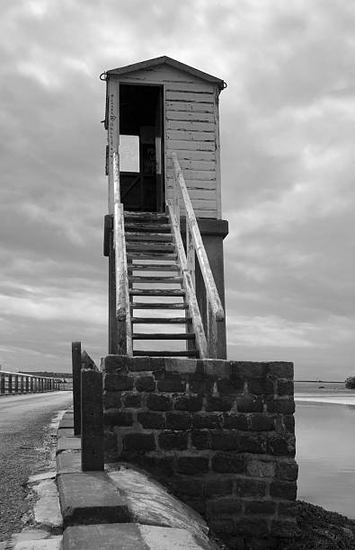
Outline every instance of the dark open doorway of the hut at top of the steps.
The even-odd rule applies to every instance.
[[[120,84],[120,200],[164,211],[163,87]]]

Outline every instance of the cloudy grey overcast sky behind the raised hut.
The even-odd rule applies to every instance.
[[[223,78],[228,359],[343,379],[354,358],[355,4],[1,1],[0,363],[107,349],[102,71],[169,56]]]

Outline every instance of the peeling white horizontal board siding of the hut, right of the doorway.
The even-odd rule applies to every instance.
[[[165,191],[176,152],[196,217],[221,217],[217,84],[165,65],[118,75],[120,84],[164,86]],[[182,208],[183,214],[183,208]]]

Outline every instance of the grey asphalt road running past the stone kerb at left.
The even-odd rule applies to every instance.
[[[0,541],[21,530],[24,488],[30,475],[49,468],[50,421],[72,404],[72,392],[0,398]]]

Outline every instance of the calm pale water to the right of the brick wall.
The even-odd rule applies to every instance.
[[[295,384],[297,498],[355,519],[355,392],[318,386]]]

